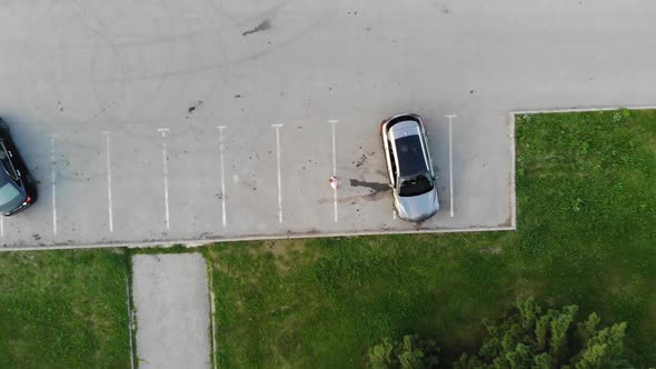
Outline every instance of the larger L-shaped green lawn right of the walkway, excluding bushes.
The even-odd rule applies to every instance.
[[[627,321],[656,363],[656,112],[517,121],[516,232],[216,245],[221,367],[354,367],[381,337],[454,358],[517,296]]]

